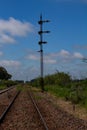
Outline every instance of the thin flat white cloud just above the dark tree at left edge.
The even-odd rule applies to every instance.
[[[0,66],[6,66],[6,67],[18,67],[21,63],[19,61],[14,60],[1,60]]]

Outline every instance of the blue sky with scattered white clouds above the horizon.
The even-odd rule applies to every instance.
[[[56,70],[74,78],[87,77],[87,0],[0,0],[0,66],[13,79],[40,76],[40,14],[48,43],[44,49],[44,75]]]

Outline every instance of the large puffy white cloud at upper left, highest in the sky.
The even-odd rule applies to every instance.
[[[8,20],[0,19],[0,42],[13,43],[15,36],[26,36],[33,30],[33,25],[29,22],[22,22],[12,17]]]

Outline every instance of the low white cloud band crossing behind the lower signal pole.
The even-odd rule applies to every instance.
[[[69,63],[76,59],[82,59],[84,56],[79,52],[71,53],[67,50],[62,49],[60,52],[48,53],[44,54],[43,62],[45,64],[59,64],[61,63]],[[26,59],[33,61],[40,61],[40,55],[31,52]]]

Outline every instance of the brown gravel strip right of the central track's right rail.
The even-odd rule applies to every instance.
[[[86,121],[64,111],[46,92],[41,93],[36,89],[34,96],[49,130],[87,130]]]

